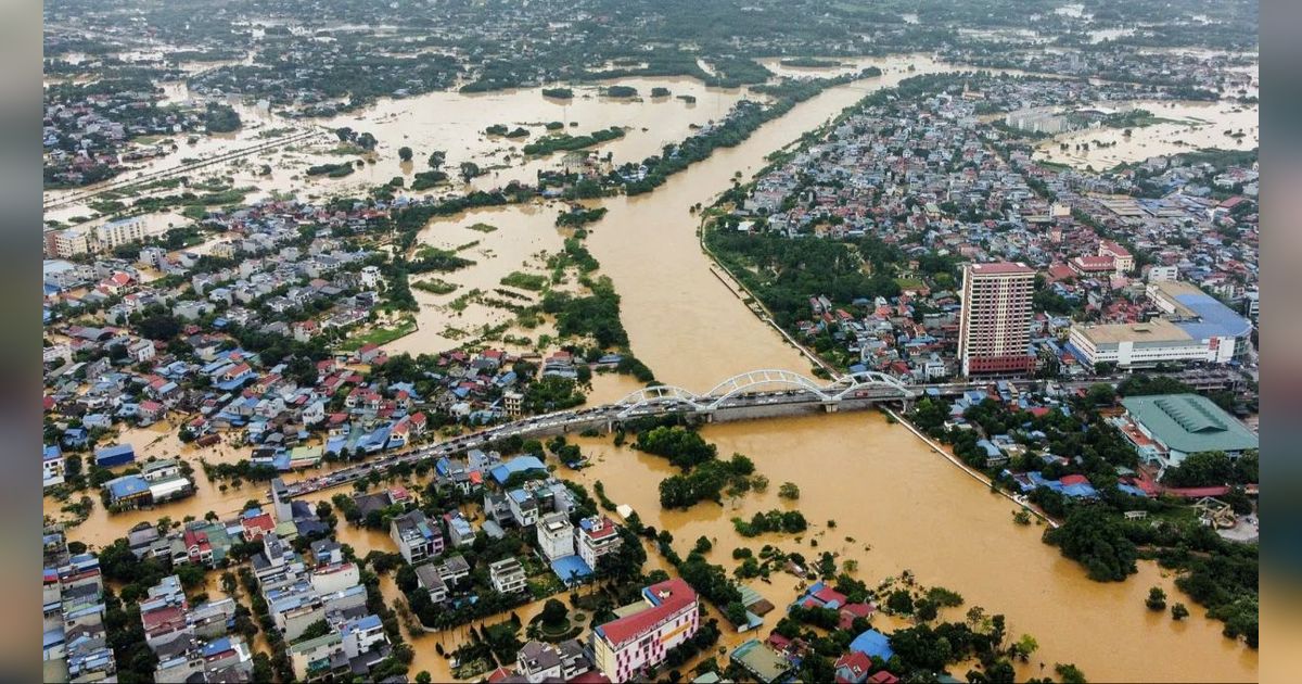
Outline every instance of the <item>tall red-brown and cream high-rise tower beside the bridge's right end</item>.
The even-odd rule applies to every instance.
[[[958,323],[963,375],[1035,370],[1035,357],[1030,353],[1034,288],[1035,270],[1025,263],[963,267],[963,310]]]

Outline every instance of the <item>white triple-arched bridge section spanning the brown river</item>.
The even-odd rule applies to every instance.
[[[697,395],[682,387],[659,384],[633,392],[612,405],[617,418],[660,413],[713,414],[772,404],[822,404],[836,410],[842,401],[909,401],[915,390],[884,373],[855,373],[820,383],[790,370],[753,370],[733,375]]]

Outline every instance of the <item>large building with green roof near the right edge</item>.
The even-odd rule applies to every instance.
[[[1224,451],[1238,456],[1258,448],[1256,434],[1212,400],[1200,395],[1128,396],[1121,400],[1130,421],[1154,444],[1128,434],[1141,455],[1163,466],[1180,465],[1190,453]]]

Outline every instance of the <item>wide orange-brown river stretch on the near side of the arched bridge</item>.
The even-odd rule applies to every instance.
[[[647,525],[671,530],[684,555],[706,535],[715,545],[711,562],[732,567],[737,546],[758,551],[773,543],[806,558],[832,551],[854,559],[857,576],[870,586],[909,569],[926,586],[953,589],[966,599],[963,611],[978,605],[1003,612],[1013,638],[1030,633],[1039,641],[1040,650],[1019,668],[1022,677],[1040,676],[1039,662],[1048,672],[1055,662],[1074,662],[1091,681],[1256,679],[1256,651],[1224,638],[1220,623],[1174,623],[1144,607],[1150,586],[1181,595],[1155,564],[1141,563],[1139,575],[1120,584],[1088,580],[1078,564],[1040,542],[1043,526],[1014,525],[1014,504],[878,413],[711,425],[703,435],[721,455],[750,456],[768,477],[768,491],[725,499],[724,506],[661,511],[650,483],[674,469],[664,459],[613,447],[609,439],[582,440],[595,461],[582,479],[602,479],[616,503],[631,506]],[[783,482],[799,486],[798,502],[777,496]],[[799,508],[810,530],[801,541],[789,534],[745,539],[733,532],[734,516],[750,519],[771,508]],[[775,575],[772,585],[751,581],[779,606],[794,599],[796,584],[788,575]]]

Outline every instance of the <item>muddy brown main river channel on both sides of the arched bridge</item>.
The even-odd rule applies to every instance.
[[[922,59],[907,63],[915,64],[914,73],[940,70]],[[589,244],[622,297],[633,352],[660,380],[703,392],[746,370],[809,373],[809,361],[712,272],[698,244],[698,220],[687,207],[708,205],[736,172],[749,177],[764,164],[764,155],[866,91],[909,76],[901,66],[887,63],[881,78],[833,89],[796,107],[648,195],[605,202],[609,214]],[[1049,671],[1055,662],[1074,662],[1104,681],[1256,679],[1256,651],[1223,637],[1220,623],[1203,618],[1173,623],[1144,608],[1143,597],[1154,585],[1194,605],[1154,563],[1141,563],[1139,575],[1125,582],[1090,581],[1079,565],[1040,542],[1042,528],[1016,526],[1012,504],[876,414],[717,425],[708,426],[704,436],[723,455],[740,451],[753,457],[772,482],[769,494],[740,503],[746,516],[781,506],[777,485],[796,482],[805,492],[799,508],[816,530],[837,520],[820,549],[859,560],[859,573],[870,584],[907,568],[923,584],[948,586],[969,605],[1005,614],[1012,633],[1034,634],[1040,651],[1023,666],[1022,676],[1036,676],[1043,661]],[[612,499],[631,504],[647,524],[671,530],[682,552],[702,534],[716,537],[713,560],[732,565],[730,549],[741,541],[729,522],[734,512],[711,506],[661,512],[655,483],[668,474],[664,464],[608,442],[589,444],[603,463],[585,473],[586,481],[603,479]],[[811,550],[806,546],[806,555]],[[775,580],[772,599],[794,595],[783,584]]]

